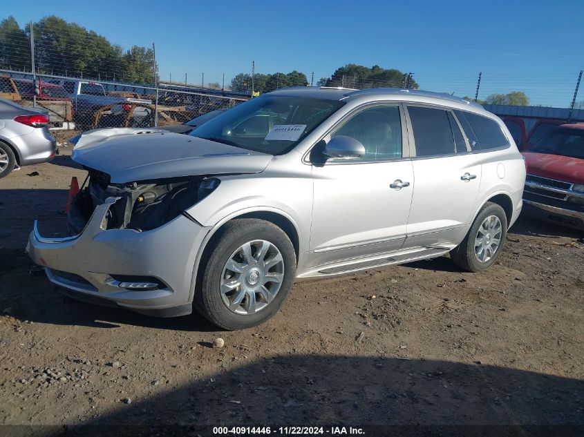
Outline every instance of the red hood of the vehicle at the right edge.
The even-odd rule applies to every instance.
[[[584,184],[584,159],[547,153],[523,153],[527,173],[571,184]]]

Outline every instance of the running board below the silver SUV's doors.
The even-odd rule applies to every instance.
[[[319,276],[333,276],[343,275],[345,273],[354,273],[357,271],[373,269],[382,266],[391,266],[395,264],[405,264],[406,262],[413,262],[419,260],[427,260],[429,258],[436,258],[445,253],[449,253],[451,249],[445,247],[419,247],[416,249],[408,249],[403,252],[394,252],[391,254],[377,255],[375,258],[358,258],[352,260],[343,260],[342,262],[335,262],[328,264],[328,266],[318,266],[314,270],[310,270],[298,276],[301,278],[314,278]]]

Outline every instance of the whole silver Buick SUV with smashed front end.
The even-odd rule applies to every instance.
[[[30,234],[64,293],[140,313],[195,307],[225,329],[281,307],[295,280],[450,253],[498,258],[525,164],[478,104],[399,89],[290,88],[189,135],[103,129],[77,139],[89,183],[72,235]]]

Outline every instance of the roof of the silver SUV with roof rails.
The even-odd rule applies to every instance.
[[[474,101],[468,101],[460,97],[454,97],[449,94],[432,93],[431,91],[412,90],[405,88],[366,88],[364,90],[355,90],[351,88],[330,88],[330,87],[316,87],[316,86],[294,86],[290,88],[282,88],[280,90],[272,91],[270,95],[286,95],[296,97],[309,97],[314,99],[329,99],[329,100],[348,100],[358,97],[393,97],[395,100],[412,99],[415,101],[448,101],[463,105],[465,107],[472,106],[474,108],[482,109],[480,104]],[[436,103],[436,102],[435,102]]]

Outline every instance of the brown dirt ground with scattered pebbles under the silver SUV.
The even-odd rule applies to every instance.
[[[442,257],[301,282],[225,332],[53,290],[24,248],[35,219],[62,232],[72,176],[65,149],[0,179],[0,424],[584,426],[581,233],[522,218],[483,273]]]

